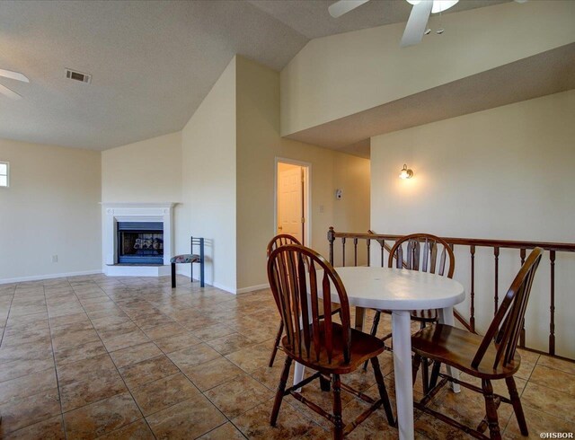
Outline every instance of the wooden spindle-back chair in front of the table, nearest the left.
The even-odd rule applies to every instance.
[[[281,340],[286,353],[286,364],[281,373],[271,412],[271,426],[276,425],[281,401],[288,394],[330,420],[335,426],[333,430],[335,439],[349,434],[382,405],[389,424],[394,425],[384,376],[381,374],[377,359],[377,355],[384,351],[384,343],[376,337],[351,328],[348,295],[332,265],[311,249],[288,244],[271,252],[268,259],[268,278],[281,320],[286,328],[286,336]],[[323,291],[323,298],[319,297],[320,289]],[[341,324],[332,321],[332,289],[337,293],[341,304]],[[323,319],[320,304],[323,304]],[[341,383],[341,374],[355,371],[368,359],[371,360],[376,376],[378,400],[371,399]],[[315,373],[286,390],[289,368],[294,360],[311,368]],[[296,392],[314,379],[326,376],[332,379],[333,414],[327,413]],[[369,409],[347,426],[341,418],[341,390],[351,392],[371,404]]]

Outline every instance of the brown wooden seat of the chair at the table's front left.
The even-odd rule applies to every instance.
[[[320,339],[325,339],[325,321],[320,321]],[[309,356],[306,354],[305,347],[289,348],[288,337],[285,336],[281,340],[284,351],[288,356],[293,357],[296,362],[303,364],[307,367],[318,369],[320,368],[325,374],[347,374],[358,368],[365,361],[374,356],[378,356],[385,350],[384,342],[375,338],[363,331],[351,330],[351,350],[350,359],[348,362],[343,358],[343,328],[340,324],[332,323],[332,340],[333,340],[333,353],[332,362],[329,361],[325,350],[319,351],[319,356],[314,350],[312,345],[309,350]],[[310,326],[310,332],[312,331]],[[303,344],[303,341],[301,342]],[[303,355],[299,355],[303,353]],[[319,360],[316,360],[318,359]]]

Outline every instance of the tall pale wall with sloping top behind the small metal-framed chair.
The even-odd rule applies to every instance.
[[[206,282],[229,292],[236,288],[235,127],[234,58],[181,132],[175,226],[177,253],[190,251],[191,234],[207,239]]]

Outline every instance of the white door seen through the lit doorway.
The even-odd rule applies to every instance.
[[[300,166],[279,163],[278,233],[288,233],[304,242],[304,185]]]

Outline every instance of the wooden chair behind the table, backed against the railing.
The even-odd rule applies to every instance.
[[[403,250],[405,246],[405,250]],[[438,260],[439,259],[439,260]],[[407,268],[421,272],[429,272],[448,278],[453,277],[456,270],[456,257],[447,242],[429,233],[412,233],[406,235],[395,242],[394,247],[389,252],[387,267]],[[383,310],[376,310],[374,322],[371,327],[371,334],[376,335],[377,326]],[[426,323],[438,321],[438,311],[433,310],[413,310],[411,320],[420,321],[420,328]],[[385,335],[383,340],[391,338],[392,334]],[[364,369],[367,368],[367,363]],[[423,360],[422,369],[423,390],[427,390],[429,385],[429,369],[427,359]]]

